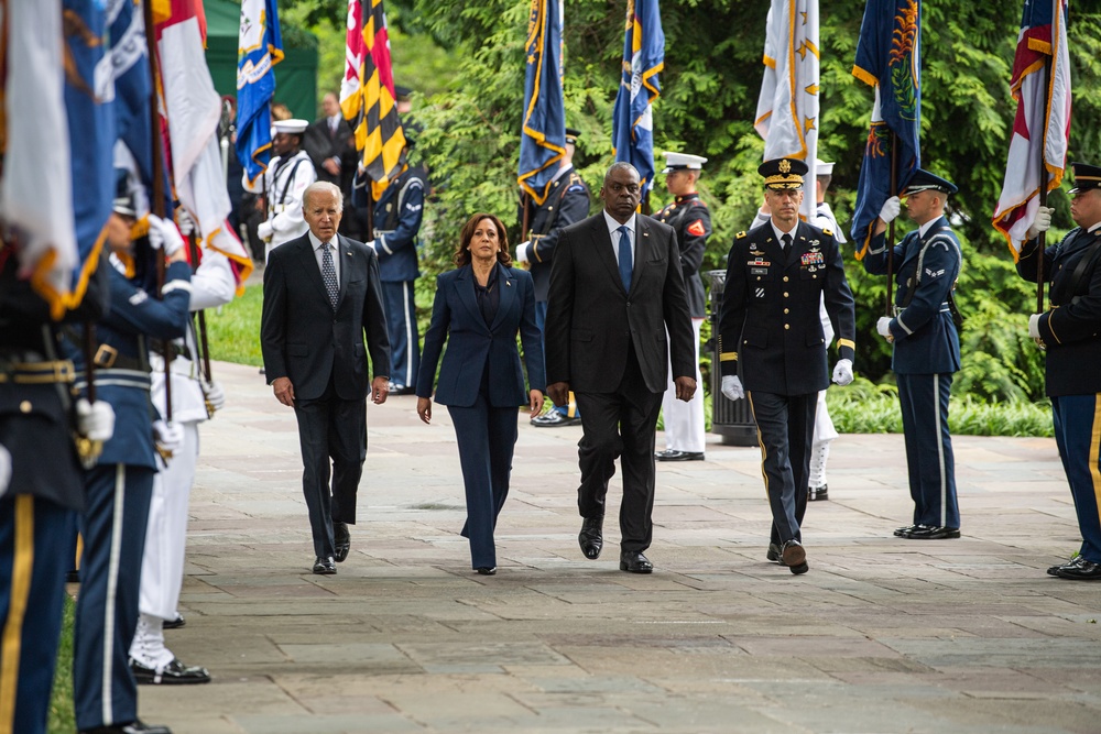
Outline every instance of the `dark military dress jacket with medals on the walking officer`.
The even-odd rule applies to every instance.
[[[742,368],[745,390],[806,395],[829,386],[822,298],[841,359],[852,360],[855,314],[841,247],[799,222],[785,253],[771,223],[741,232],[730,248],[719,316],[723,376]]]

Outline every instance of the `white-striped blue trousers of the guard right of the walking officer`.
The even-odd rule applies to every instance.
[[[900,374],[897,379],[914,524],[959,527],[956,457],[948,432],[952,375]]]

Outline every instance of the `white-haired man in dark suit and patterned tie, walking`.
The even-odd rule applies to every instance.
[[[386,399],[390,338],[379,260],[337,234],[344,200],[334,184],[303,196],[309,231],[272,251],[264,271],[260,342],[268,382],[298,419],[302,491],[314,535],[314,573],[348,557],[356,491],[367,459],[367,406]],[[367,336],[374,379],[368,379]],[[333,460],[331,490],[329,459]]]

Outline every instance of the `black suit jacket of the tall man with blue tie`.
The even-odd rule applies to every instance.
[[[665,391],[671,357],[674,377],[695,377],[696,337],[673,228],[635,217],[630,293],[602,211],[562,230],[544,333],[547,382],[568,382],[575,392],[614,392],[631,344],[651,392]]]

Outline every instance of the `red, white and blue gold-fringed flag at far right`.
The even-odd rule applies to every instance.
[[[1017,113],[994,228],[1020,256],[1039,208],[1040,182],[1058,188],[1070,140],[1070,53],[1067,0],[1025,0],[1010,79]],[[1040,166],[1043,165],[1043,171]]]

